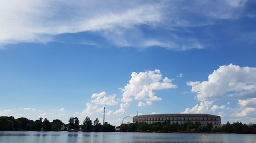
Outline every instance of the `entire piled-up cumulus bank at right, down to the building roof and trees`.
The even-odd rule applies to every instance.
[[[245,121],[256,117],[256,68],[237,65],[220,66],[208,76],[208,81],[187,82],[191,92],[201,101],[183,113],[216,113],[233,121]],[[226,105],[214,105],[214,100],[225,100]],[[238,106],[227,107],[237,100]],[[230,101],[230,102],[229,102]]]

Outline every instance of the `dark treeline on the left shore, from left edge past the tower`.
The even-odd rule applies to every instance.
[[[105,122],[104,125],[96,119],[93,123],[89,117],[84,119],[83,124],[79,125],[77,117],[70,118],[69,124],[64,124],[62,121],[55,119],[52,122],[45,118],[38,120],[29,120],[27,118],[0,117],[0,131],[96,131],[96,132],[114,132],[115,126]]]

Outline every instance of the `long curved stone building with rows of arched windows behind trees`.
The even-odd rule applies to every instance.
[[[148,124],[156,122],[170,122],[170,124],[184,124],[186,122],[200,122],[201,125],[212,124],[214,128],[221,127],[221,117],[216,115],[202,113],[170,113],[170,114],[153,114],[140,115],[133,117],[133,123],[146,122]]]

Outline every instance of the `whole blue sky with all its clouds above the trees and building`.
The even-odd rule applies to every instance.
[[[256,2],[0,1],[0,116],[256,123]],[[127,119],[127,121],[131,119]]]

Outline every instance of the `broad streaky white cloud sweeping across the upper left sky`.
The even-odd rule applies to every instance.
[[[0,16],[5,22],[0,24],[0,43],[47,42],[52,40],[48,35],[111,30],[115,26],[130,27],[159,21],[157,4],[138,4],[49,0],[2,2]]]

